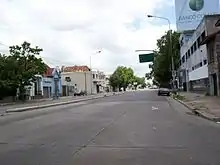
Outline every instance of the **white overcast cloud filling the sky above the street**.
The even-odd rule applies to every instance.
[[[145,13],[163,9],[165,0],[1,0],[0,35],[7,45],[24,40],[44,49],[50,65],[89,65],[108,73],[118,65],[149,71],[136,49],[155,49],[168,29]],[[169,2],[172,6],[173,2]],[[166,5],[167,7],[167,5]],[[101,54],[95,54],[102,49]]]

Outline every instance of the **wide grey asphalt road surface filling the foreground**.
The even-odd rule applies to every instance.
[[[156,91],[0,117],[0,165],[219,165],[220,124]]]

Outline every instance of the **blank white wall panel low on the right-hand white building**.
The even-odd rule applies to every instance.
[[[189,72],[189,81],[208,78],[208,66],[204,65],[194,71]]]

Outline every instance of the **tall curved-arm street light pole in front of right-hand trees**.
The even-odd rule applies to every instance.
[[[175,80],[175,76],[174,76],[174,60],[173,60],[173,54],[172,54],[172,31],[171,31],[171,22],[168,18],[166,17],[158,17],[158,16],[154,16],[154,15],[147,15],[148,18],[159,18],[159,19],[163,19],[166,20],[169,24],[169,40],[170,40],[170,45],[169,45],[169,52],[171,55],[171,71],[172,71],[172,85],[173,87],[175,87],[174,85],[174,80]]]

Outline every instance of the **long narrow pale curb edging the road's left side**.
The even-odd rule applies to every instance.
[[[105,94],[103,96],[95,96],[95,97],[91,97],[91,98],[70,100],[70,101],[53,103],[53,104],[37,105],[37,106],[22,107],[22,108],[13,108],[13,109],[7,109],[5,111],[5,113],[24,112],[24,111],[31,111],[31,110],[41,109],[41,108],[55,107],[55,106],[60,106],[60,105],[75,104],[75,103],[79,103],[79,102],[83,102],[83,101],[96,100],[96,99],[99,99],[99,98],[110,97],[110,96],[115,96],[115,95],[120,95],[120,94],[122,94],[122,93],[113,93],[113,94],[109,94],[109,95]]]

